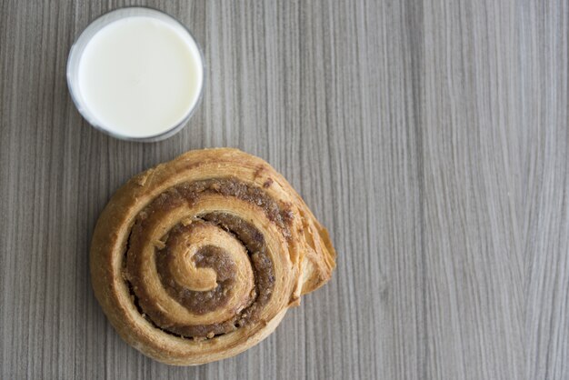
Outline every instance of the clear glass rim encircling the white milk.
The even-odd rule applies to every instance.
[[[135,15],[135,14],[131,13],[131,12],[136,13],[137,11],[143,12],[143,14]],[[121,15],[121,14],[125,14],[125,15]],[[155,14],[155,15],[160,15],[162,17],[167,17],[167,18],[171,19],[173,22],[175,22],[176,25],[179,25],[182,27],[183,31],[187,34],[187,36],[190,38],[190,40],[195,44],[195,47],[197,49],[198,58],[200,61],[198,64],[201,65],[201,67],[202,67],[202,81],[201,81],[201,85],[199,88],[199,93],[197,95],[197,98],[195,99],[195,103],[190,107],[190,109],[184,115],[184,117],[179,122],[177,122],[175,125],[172,125],[172,127],[170,127],[169,129],[165,130],[164,132],[160,132],[159,134],[156,134],[156,135],[147,135],[147,136],[123,135],[120,133],[116,133],[115,131],[109,130],[108,128],[105,127],[105,125],[103,123],[97,123],[97,121],[94,120],[94,117],[92,117],[92,114],[88,110],[85,109],[86,108],[85,102],[82,99],[80,99],[80,95],[78,94],[78,93],[80,93],[80,91],[78,91],[78,87],[77,87],[78,85],[75,84],[75,78],[73,76],[74,76],[74,74],[76,74],[76,71],[78,70],[81,57],[82,57],[84,50],[85,50],[85,46],[105,26],[110,25],[110,24],[114,23],[115,21],[121,20],[121,19],[126,18],[126,17],[144,16],[144,15],[149,15],[149,14]],[[110,17],[111,15],[117,15],[118,17],[112,18],[112,17]],[[84,43],[84,42],[85,42],[85,44],[82,45],[82,50],[77,51],[78,44]],[[74,72],[74,69],[75,69],[75,72]],[[144,6],[144,5],[142,5],[142,6],[124,6],[124,7],[116,8],[116,9],[110,10],[108,12],[105,12],[103,15],[97,16],[93,21],[91,21],[88,25],[86,25],[85,29],[83,29],[83,31],[77,36],[77,38],[75,38],[74,43],[71,45],[71,48],[69,49],[69,54],[67,55],[67,65],[65,67],[65,70],[66,70],[65,76],[66,76],[66,82],[67,82],[67,89],[68,89],[69,95],[71,96],[71,99],[75,105],[75,108],[77,109],[79,114],[85,119],[85,121],[89,125],[91,125],[96,130],[104,133],[105,135],[110,135],[112,137],[115,137],[115,138],[120,139],[120,140],[125,140],[125,141],[151,143],[151,142],[165,140],[166,138],[171,137],[172,135],[175,135],[182,128],[184,128],[184,126],[189,121],[189,119],[194,115],[195,110],[198,108],[198,105],[201,104],[201,101],[202,101],[202,98],[204,95],[205,57],[204,57],[204,53],[202,51],[201,46],[197,43],[197,40],[195,39],[194,35],[192,34],[192,32],[188,29],[188,27],[186,25],[184,25],[181,21],[179,21],[173,15],[169,15],[169,14],[165,13],[164,11],[153,8],[151,6]]]

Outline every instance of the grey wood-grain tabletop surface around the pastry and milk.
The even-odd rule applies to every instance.
[[[569,377],[567,1],[144,3],[207,63],[157,144],[95,132],[65,84],[75,37],[131,4],[0,2],[0,377]],[[127,178],[207,146],[284,173],[338,266],[262,344],[169,367],[107,323],[88,246]]]

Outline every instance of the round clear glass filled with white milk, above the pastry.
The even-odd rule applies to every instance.
[[[172,16],[121,8],[97,18],[75,41],[67,85],[95,128],[125,140],[163,140],[185,125],[201,99],[204,56]]]

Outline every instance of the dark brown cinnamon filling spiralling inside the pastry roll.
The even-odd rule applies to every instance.
[[[216,286],[207,291],[196,291],[187,288],[175,281],[172,265],[175,260],[173,247],[177,244],[176,239],[185,235],[191,235],[198,225],[215,225],[222,228],[245,247],[249,257],[251,269],[254,274],[254,290],[244,301],[241,310],[232,310],[232,317],[215,324],[209,325],[180,325],[165,312],[162,305],[150,298],[146,289],[147,284],[139,275],[139,271],[145,263],[138,255],[143,248],[145,230],[149,227],[147,220],[149,215],[155,212],[164,213],[170,209],[187,202],[194,204],[200,196],[205,194],[221,194],[233,196],[246,202],[261,207],[265,215],[279,226],[285,237],[290,236],[289,215],[290,211],[282,207],[265,194],[261,188],[246,185],[235,178],[216,178],[194,183],[177,185],[162,195],[143,210],[135,221],[132,234],[129,238],[129,250],[126,254],[125,278],[135,293],[135,302],[140,306],[146,318],[166,332],[183,335],[186,337],[208,337],[226,334],[236,328],[255,323],[269,302],[275,288],[275,270],[267,252],[265,238],[254,225],[242,218],[226,213],[215,212],[204,215],[195,215],[192,223],[179,223],[165,235],[163,246],[155,248],[155,264],[161,284],[167,294],[178,304],[195,315],[205,315],[224,308],[228,304],[232,289],[235,286],[236,267],[235,263],[224,249],[215,245],[205,245],[192,256],[196,268],[211,268],[215,271]],[[161,244],[162,244],[161,243]],[[153,285],[155,286],[155,285]]]

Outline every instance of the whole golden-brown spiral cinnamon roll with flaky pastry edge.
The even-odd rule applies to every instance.
[[[236,149],[191,151],[133,177],[95,227],[91,275],[112,325],[145,355],[236,355],[328,281],[334,248],[284,177]]]

